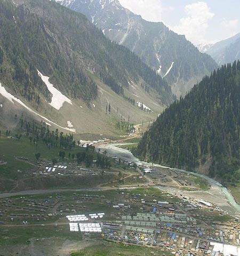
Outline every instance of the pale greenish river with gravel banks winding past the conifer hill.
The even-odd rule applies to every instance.
[[[141,164],[148,164],[145,162],[141,162],[137,157],[133,156],[133,154],[126,149],[119,148],[119,146],[123,145],[130,145],[131,143],[106,143],[98,145],[96,148],[100,149],[101,151],[106,150],[107,155],[110,157],[117,157],[121,158],[123,160],[134,162],[134,163],[141,163]],[[149,164],[148,164],[149,165]],[[155,167],[161,167],[161,168],[169,168],[166,166],[154,164]],[[167,187],[158,187],[159,189],[164,189],[168,191],[169,193],[176,193],[180,192],[183,195],[189,196],[189,197],[195,197],[196,199],[206,199],[207,201],[216,204],[219,206],[223,211],[227,211],[229,214],[233,215],[236,218],[240,218],[240,205],[237,204],[235,201],[235,198],[230,193],[230,191],[223,187],[218,181],[211,179],[207,177],[206,175],[194,173],[194,172],[187,172],[185,170],[179,170],[179,169],[173,169],[172,170],[183,172],[183,173],[189,173],[191,175],[194,175],[195,177],[200,177],[205,180],[207,180],[211,188],[207,191],[186,191],[186,190],[178,190],[174,188],[167,188]]]

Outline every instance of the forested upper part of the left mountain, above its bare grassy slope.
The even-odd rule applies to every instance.
[[[146,98],[156,95],[159,106],[174,100],[165,79],[137,55],[112,43],[83,14],[49,0],[0,0],[0,83],[0,94],[23,100],[41,115],[54,93],[55,101],[78,105],[75,112],[81,104],[93,107],[103,97],[99,85],[111,90],[106,103],[118,97],[119,108],[122,102],[134,108],[132,83],[141,84]],[[99,103],[105,113],[106,103]],[[57,110],[51,117],[59,118],[62,107]]]

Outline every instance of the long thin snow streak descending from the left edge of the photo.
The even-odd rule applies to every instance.
[[[61,129],[64,129],[64,130],[67,130],[69,132],[76,132],[75,129],[70,129],[70,128],[67,128],[67,127],[62,127],[52,121],[50,121],[49,119],[47,119],[46,117],[44,116],[41,116],[39,115],[38,113],[36,113],[34,110],[30,109],[27,105],[25,105],[25,103],[23,103],[21,100],[19,100],[18,98],[14,97],[11,93],[7,92],[5,87],[2,86],[2,84],[0,83],[0,94],[3,95],[3,97],[5,97],[6,99],[8,99],[9,101],[11,101],[13,104],[14,104],[14,101],[18,102],[22,107],[26,108],[28,111],[30,111],[31,113],[34,113],[35,115],[41,117],[44,119],[44,121],[47,121],[47,125],[56,125],[58,127],[60,127]],[[50,124],[51,123],[51,124]]]

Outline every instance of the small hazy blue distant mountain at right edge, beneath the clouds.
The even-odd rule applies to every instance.
[[[212,45],[206,53],[219,64],[234,62],[240,59],[240,33]]]

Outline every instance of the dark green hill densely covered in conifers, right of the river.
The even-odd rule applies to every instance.
[[[240,61],[206,76],[143,135],[137,155],[227,181],[240,167]],[[240,177],[238,177],[240,179]]]

